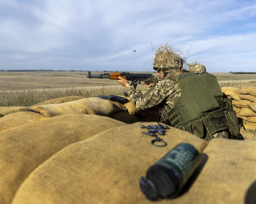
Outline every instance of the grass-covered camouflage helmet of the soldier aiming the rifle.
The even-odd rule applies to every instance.
[[[166,50],[163,53],[156,53],[153,69],[177,69],[182,70],[183,63],[180,55]]]

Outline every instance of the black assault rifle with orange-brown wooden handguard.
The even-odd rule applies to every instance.
[[[91,71],[88,71],[89,79],[97,78],[97,79],[119,79],[118,77],[122,77],[127,81],[132,81],[131,85],[133,85],[134,89],[136,89],[137,85],[142,81],[146,81],[150,78],[155,78],[152,74],[129,74],[129,72],[112,72],[112,73],[101,73],[99,76],[92,76]]]

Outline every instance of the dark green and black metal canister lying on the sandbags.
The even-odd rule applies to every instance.
[[[175,198],[200,164],[201,155],[188,143],[181,143],[150,166],[140,189],[149,200]]]

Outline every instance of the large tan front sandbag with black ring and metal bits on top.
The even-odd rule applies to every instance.
[[[69,145],[49,158],[20,186],[12,204],[136,203],[145,200],[139,178],[148,167],[181,142],[202,152],[208,142],[171,128],[159,136],[165,147],[151,144],[134,123],[94,135]],[[146,129],[147,130],[147,129]],[[214,172],[211,172],[211,174]]]

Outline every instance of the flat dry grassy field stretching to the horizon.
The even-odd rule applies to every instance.
[[[92,71],[93,76],[103,71]],[[148,73],[156,76],[156,72]],[[236,75],[212,73],[221,87],[256,86],[256,74]],[[89,79],[85,71],[30,71],[0,72],[0,106],[31,106],[52,98],[66,96],[96,97],[97,95],[122,95],[124,87],[116,80]],[[143,85],[139,90],[146,90]]]

